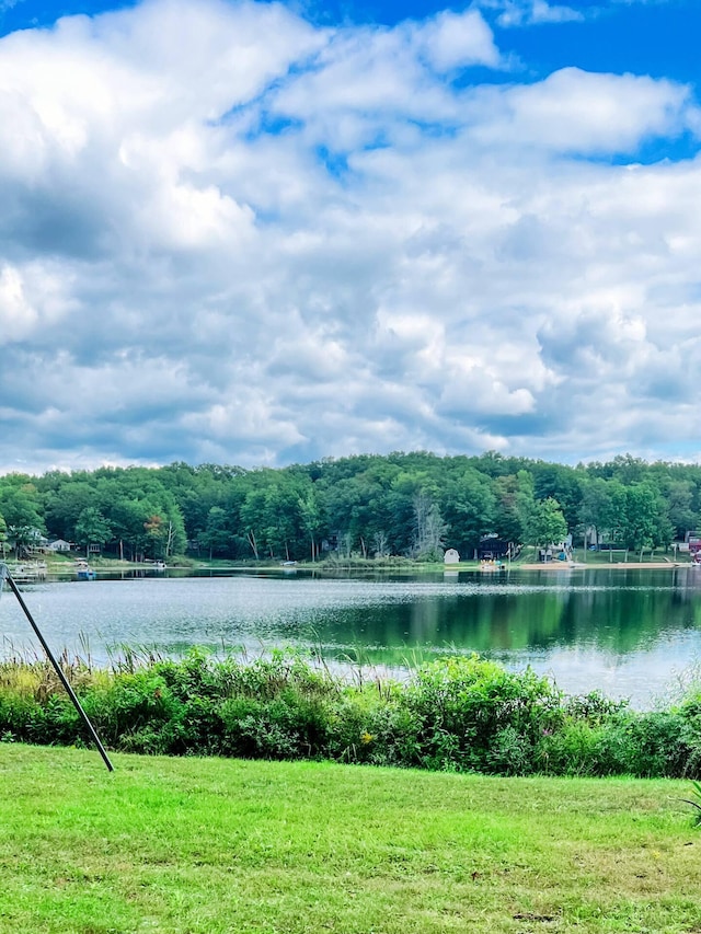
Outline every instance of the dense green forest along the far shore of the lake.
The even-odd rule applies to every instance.
[[[472,557],[484,537],[668,547],[701,526],[701,465],[631,456],[567,466],[487,452],[324,459],[281,469],[173,463],[0,477],[0,542],[62,539],[127,560]]]

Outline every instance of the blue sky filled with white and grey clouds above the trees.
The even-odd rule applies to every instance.
[[[0,0],[0,473],[701,460],[698,0]]]

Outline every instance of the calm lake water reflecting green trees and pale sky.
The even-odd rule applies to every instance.
[[[319,650],[401,676],[417,660],[478,652],[531,665],[568,693],[599,688],[651,706],[701,661],[701,570],[446,572],[314,577],[302,572],[50,581],[23,588],[55,650],[106,661],[123,644],[260,654]],[[22,611],[0,601],[5,656],[35,646]]]

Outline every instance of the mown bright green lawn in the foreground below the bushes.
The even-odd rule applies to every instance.
[[[0,745],[0,932],[701,932],[689,784]]]

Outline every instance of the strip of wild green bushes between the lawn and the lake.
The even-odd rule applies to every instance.
[[[497,775],[701,777],[701,685],[637,712],[594,692],[567,696],[526,669],[478,656],[409,679],[349,682],[295,653],[255,660],[193,650],[181,660],[65,660],[113,750],[313,759]],[[0,664],[0,740],[85,746],[48,664]]]

